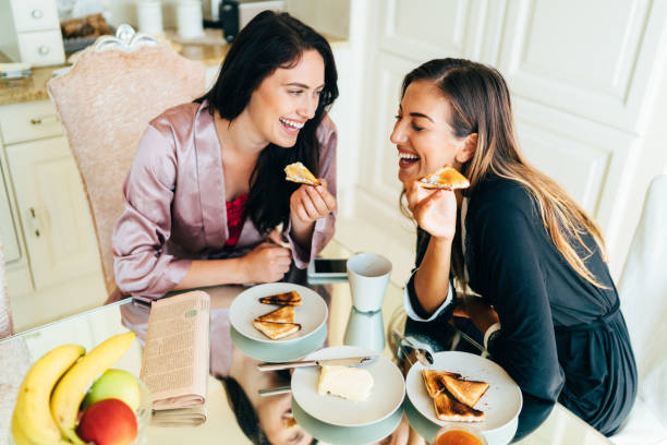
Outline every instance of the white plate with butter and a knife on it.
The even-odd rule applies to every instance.
[[[320,349],[308,356],[311,359],[339,359],[375,354],[353,346],[335,346]],[[292,397],[308,416],[338,426],[363,426],[379,422],[403,401],[405,382],[401,371],[386,357],[379,357],[363,366],[373,375],[373,389],[366,400],[351,401],[341,397],[317,393],[319,366],[300,368],[292,375]]]

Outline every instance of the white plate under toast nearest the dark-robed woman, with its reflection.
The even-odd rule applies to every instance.
[[[508,444],[517,432],[523,402],[521,390],[509,374],[493,361],[474,353],[445,351],[433,354],[433,359],[428,369],[457,372],[468,380],[488,382],[489,388],[474,407],[484,411],[485,420],[466,424],[480,430],[489,445]],[[440,426],[458,422],[436,418],[433,399],[424,387],[423,369],[425,366],[417,362],[405,377],[405,417],[422,437],[433,441]]]

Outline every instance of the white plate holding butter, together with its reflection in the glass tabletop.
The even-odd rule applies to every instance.
[[[337,359],[375,354],[362,348],[337,346],[306,357]],[[373,375],[366,400],[351,401],[317,393],[319,366],[300,368],[292,375],[292,412],[296,422],[314,437],[331,444],[367,444],[391,434],[401,421],[405,382],[386,357],[363,365]]]

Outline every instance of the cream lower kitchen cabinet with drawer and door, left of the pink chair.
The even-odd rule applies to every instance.
[[[0,130],[10,296],[101,276],[87,200],[52,104],[0,107]]]

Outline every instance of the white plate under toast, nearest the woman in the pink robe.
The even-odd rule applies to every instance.
[[[271,340],[253,326],[253,320],[278,309],[276,304],[263,304],[262,297],[295,290],[301,296],[301,304],[294,306],[294,322],[301,329],[292,335]],[[250,339],[267,344],[286,344],[312,335],[327,321],[327,303],[317,292],[291,282],[270,282],[254,286],[239,293],[229,309],[229,321],[237,332]]]

